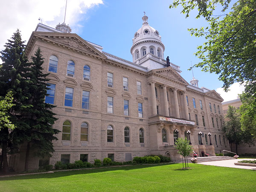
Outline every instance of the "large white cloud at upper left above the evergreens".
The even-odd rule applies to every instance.
[[[88,9],[103,4],[102,0],[68,0],[66,22],[77,32],[81,26],[80,20],[85,18]],[[39,23],[41,17],[43,24],[55,27],[63,23],[66,0],[3,0],[0,6],[0,50],[12,37],[12,34],[20,29],[22,39],[28,41],[32,31]]]

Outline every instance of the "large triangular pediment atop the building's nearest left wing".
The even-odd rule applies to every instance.
[[[33,34],[40,36],[44,41],[51,42],[61,47],[85,52],[88,55],[97,55],[102,58],[107,58],[102,52],[74,33],[33,32]]]

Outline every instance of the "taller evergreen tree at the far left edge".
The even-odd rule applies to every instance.
[[[15,124],[17,129],[27,127],[26,122],[23,121],[22,111],[29,108],[29,105],[25,102],[29,98],[29,94],[26,92],[29,87],[29,81],[26,79],[29,67],[24,49],[24,41],[21,40],[20,31],[17,29],[12,38],[6,43],[0,56],[3,61],[2,67],[0,67],[0,96],[5,96],[7,92],[12,91],[14,105],[8,110],[7,115],[10,116],[10,121]],[[0,130],[0,143],[2,150],[5,151],[3,160],[7,159],[9,150],[17,151],[18,145],[24,139],[23,135],[20,135],[13,142],[12,132],[9,132],[7,127]],[[3,164],[3,172],[8,172],[7,163]]]

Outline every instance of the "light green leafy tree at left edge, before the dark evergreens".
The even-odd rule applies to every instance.
[[[10,121],[10,116],[8,114],[8,110],[12,108],[13,97],[12,91],[9,91],[6,96],[3,98],[0,96],[0,141],[2,146],[2,159],[0,161],[0,170],[3,166],[3,172],[6,173],[8,171],[8,163],[7,163],[7,142],[9,136],[9,129],[13,130],[15,128],[14,124]],[[6,138],[7,137],[7,138]]]

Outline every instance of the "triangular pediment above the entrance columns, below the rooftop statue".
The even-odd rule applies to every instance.
[[[187,85],[189,84],[185,79],[183,79],[182,76],[180,76],[180,74],[178,74],[175,70],[173,70],[172,67],[156,69],[156,70],[153,70],[153,72],[155,72],[161,76],[165,76],[169,79],[181,82],[183,84],[187,84]]]

